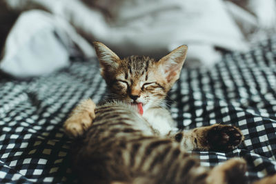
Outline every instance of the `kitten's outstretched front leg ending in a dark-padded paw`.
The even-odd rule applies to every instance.
[[[242,132],[232,125],[211,125],[179,132],[175,139],[186,150],[226,151],[237,147],[244,140]]]

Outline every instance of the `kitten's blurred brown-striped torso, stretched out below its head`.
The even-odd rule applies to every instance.
[[[75,170],[83,183],[244,183],[245,163],[199,165],[176,141],[161,138],[131,106],[107,103],[96,109],[93,125],[74,146]],[[229,178],[231,168],[235,176]],[[221,172],[221,177],[217,176]]]

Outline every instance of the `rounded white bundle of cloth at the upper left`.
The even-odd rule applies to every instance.
[[[26,78],[65,68],[77,52],[75,39],[86,42],[63,19],[41,10],[23,12],[8,34],[0,69]]]

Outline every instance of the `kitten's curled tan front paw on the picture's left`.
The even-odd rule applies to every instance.
[[[96,105],[91,99],[81,101],[63,124],[66,134],[73,137],[83,134],[95,119],[95,108]]]

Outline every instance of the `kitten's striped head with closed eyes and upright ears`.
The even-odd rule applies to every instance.
[[[164,100],[179,79],[187,53],[187,46],[181,45],[159,61],[137,56],[119,59],[103,43],[94,45],[112,99],[142,103],[144,108],[159,106]]]

